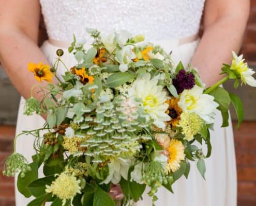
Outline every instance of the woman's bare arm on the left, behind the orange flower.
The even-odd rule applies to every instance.
[[[0,5],[0,60],[14,87],[28,98],[32,85],[38,83],[27,70],[28,62],[48,63],[37,46],[40,4],[37,0],[0,0]]]

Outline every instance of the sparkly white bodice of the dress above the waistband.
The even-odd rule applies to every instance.
[[[85,28],[126,29],[147,40],[183,38],[198,32],[205,0],[40,0],[49,38],[88,39]]]

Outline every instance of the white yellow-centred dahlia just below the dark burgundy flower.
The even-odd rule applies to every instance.
[[[191,90],[184,90],[178,106],[183,111],[198,114],[206,124],[214,123],[216,108],[219,106],[212,95],[203,94],[204,89],[195,85]]]

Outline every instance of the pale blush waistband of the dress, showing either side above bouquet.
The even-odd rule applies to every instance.
[[[188,37],[184,37],[184,38],[177,39],[177,40],[171,39],[169,41],[174,41],[177,44],[177,46],[181,46],[183,44],[192,43],[198,39],[199,39],[199,35],[198,35],[198,33],[196,33],[196,34],[190,35]],[[53,46],[61,47],[61,48],[68,48],[71,45],[71,42],[66,42],[66,41],[61,41],[61,40],[56,40],[56,39],[51,39],[51,38],[49,38],[48,41]],[[156,42],[159,42],[159,41],[156,41]]]

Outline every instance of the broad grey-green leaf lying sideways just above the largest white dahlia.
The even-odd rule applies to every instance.
[[[121,84],[124,84],[131,79],[133,79],[135,75],[130,74],[128,72],[118,72],[115,74],[112,74],[107,79],[107,85],[110,88],[116,88]]]

